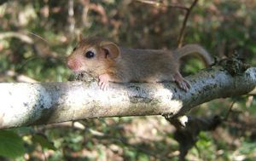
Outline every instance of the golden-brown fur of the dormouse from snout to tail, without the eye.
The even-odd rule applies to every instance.
[[[84,56],[87,51],[96,55],[92,59]],[[211,57],[196,44],[181,49],[125,49],[108,40],[91,37],[83,39],[69,55],[67,64],[74,72],[90,72],[99,78],[108,75],[110,82],[156,83],[175,81],[181,89],[189,89],[189,83],[179,72],[179,59],[184,55],[198,53],[209,64]]]

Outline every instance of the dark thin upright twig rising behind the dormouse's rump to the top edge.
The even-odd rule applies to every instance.
[[[180,48],[183,46],[183,37],[184,37],[184,31],[185,31],[185,28],[187,26],[187,21],[189,19],[189,14],[191,13],[191,10],[195,7],[195,4],[198,2],[198,0],[195,0],[191,6],[189,7],[189,9],[186,10],[186,14],[185,14],[185,17],[184,17],[184,20],[183,20],[183,26],[182,26],[182,29],[180,30],[179,32],[179,36],[177,38],[177,47]]]

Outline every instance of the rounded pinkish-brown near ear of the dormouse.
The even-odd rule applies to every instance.
[[[105,51],[106,58],[115,59],[120,54],[118,45],[113,42],[104,41],[101,43],[101,48]]]

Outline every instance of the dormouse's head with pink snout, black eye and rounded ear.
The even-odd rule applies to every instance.
[[[108,71],[119,53],[119,47],[111,41],[98,37],[84,38],[67,57],[67,66],[73,72],[99,75]]]

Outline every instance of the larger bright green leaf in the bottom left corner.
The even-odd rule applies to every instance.
[[[25,153],[22,138],[11,130],[0,130],[0,156],[17,158]]]

